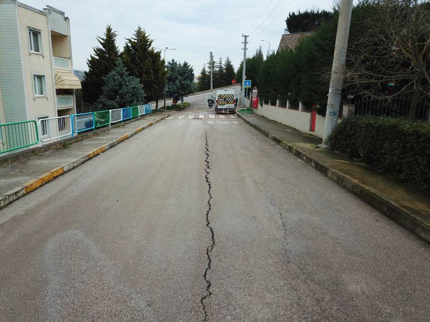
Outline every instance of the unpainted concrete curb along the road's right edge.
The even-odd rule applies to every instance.
[[[365,185],[359,184],[351,180],[350,178],[346,177],[344,174],[336,171],[335,169],[332,169],[316,161],[315,159],[301,152],[291,144],[285,141],[282,141],[278,137],[263,130],[256,124],[253,124],[252,122],[248,121],[245,117],[240,115],[240,113],[237,113],[237,115],[239,116],[240,119],[245,121],[245,123],[255,128],[258,132],[267,136],[269,139],[276,142],[281,147],[288,150],[295,156],[299,157],[301,160],[303,160],[304,162],[306,162],[316,170],[325,174],[327,177],[329,177],[331,180],[339,184],[347,191],[353,193],[355,196],[365,201],[367,204],[381,211],[387,217],[394,220],[398,224],[402,225],[403,227],[405,227],[415,235],[421,237],[423,240],[430,242],[430,225],[419,216],[414,215],[413,213],[400,207],[394,202],[389,201],[384,197],[378,195],[377,192],[372,191],[371,187],[367,187]]]

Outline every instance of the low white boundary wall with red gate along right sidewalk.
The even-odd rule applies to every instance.
[[[322,138],[324,134],[325,118],[318,114],[316,115],[315,132],[312,132],[309,130],[312,116],[310,112],[263,104],[263,106],[258,105],[258,109],[254,109],[254,113],[320,138]]]

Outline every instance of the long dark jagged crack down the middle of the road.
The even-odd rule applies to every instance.
[[[212,194],[211,194],[211,181],[209,180],[209,173],[211,171],[211,166],[209,165],[209,144],[208,144],[208,134],[205,131],[205,139],[206,139],[206,145],[205,145],[205,155],[206,155],[206,167],[205,167],[205,178],[206,178],[206,182],[208,184],[208,209],[206,210],[206,227],[209,228],[209,231],[211,232],[211,244],[208,246],[208,248],[206,248],[206,256],[208,257],[208,266],[206,267],[205,270],[205,274],[203,275],[203,278],[206,281],[206,294],[200,299],[200,302],[202,303],[203,306],[203,312],[205,313],[205,320],[204,321],[208,321],[208,312],[206,311],[206,305],[205,305],[205,300],[207,298],[209,298],[212,295],[211,292],[211,282],[208,279],[208,271],[211,269],[211,264],[212,264],[212,259],[211,259],[211,252],[215,247],[215,235],[214,235],[214,229],[211,226],[211,222],[209,221],[209,213],[211,212],[212,209],[212,204],[211,204],[211,200],[212,200]]]

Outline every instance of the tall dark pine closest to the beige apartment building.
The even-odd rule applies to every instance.
[[[93,47],[94,54],[86,61],[88,71],[82,81],[82,96],[87,103],[94,104],[97,101],[102,93],[103,77],[115,68],[120,54],[116,45],[117,35],[111,25],[107,25],[104,38],[97,37],[100,47]]]

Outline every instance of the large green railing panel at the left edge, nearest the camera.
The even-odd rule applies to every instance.
[[[0,154],[39,143],[36,121],[0,124]]]

